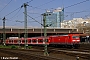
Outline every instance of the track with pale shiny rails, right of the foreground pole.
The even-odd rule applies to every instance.
[[[66,54],[70,56],[78,56],[83,59],[89,60],[90,58],[90,53],[88,52],[81,52],[81,51],[74,51],[74,50],[59,50],[59,49],[51,49],[51,51],[54,51],[54,53],[61,53],[61,54]]]

